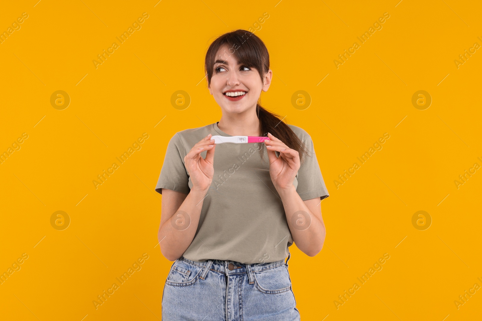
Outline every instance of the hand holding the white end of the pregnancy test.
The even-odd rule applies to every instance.
[[[213,145],[210,147],[209,145]],[[211,134],[199,141],[191,148],[184,157],[184,166],[189,173],[192,182],[192,189],[207,191],[211,186],[214,176],[214,149],[216,144],[211,141]],[[206,152],[206,158],[201,157],[201,153]]]

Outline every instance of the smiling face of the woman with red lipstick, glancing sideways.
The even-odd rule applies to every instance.
[[[229,53],[228,45],[224,45],[216,53],[209,92],[214,96],[223,113],[242,113],[256,108],[261,90],[268,90],[271,77],[272,71],[269,70],[264,77],[263,85],[259,71],[239,64],[236,57]],[[225,94],[233,90],[238,92],[238,96]],[[240,91],[244,93],[239,95]]]

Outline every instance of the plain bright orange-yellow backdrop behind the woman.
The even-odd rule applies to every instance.
[[[0,285],[2,319],[161,319],[172,262],[156,246],[162,197],[154,188],[174,133],[220,119],[203,79],[204,54],[238,28],[265,41],[274,77],[262,105],[311,135],[330,193],[321,202],[322,251],[308,257],[290,248],[302,320],[480,317],[480,289],[458,308],[454,301],[482,286],[480,168],[455,184],[482,165],[481,49],[458,67],[455,60],[482,45],[482,7],[397,2],[2,4],[0,31],[28,14],[0,44],[0,151],[17,148],[0,164],[0,272],[28,255]],[[141,29],[96,68],[97,55],[143,13]],[[361,43],[384,13],[382,28]],[[336,68],[354,42],[360,47]],[[70,98],[67,108],[51,103],[57,90]],[[190,100],[183,110],[171,103],[177,90]],[[298,90],[308,108],[292,103]],[[412,103],[418,90],[432,99],[424,110]],[[14,144],[23,133],[28,138]],[[97,175],[120,164],[116,157],[143,133],[141,149],[96,188]],[[357,157],[384,133],[383,148],[361,164]],[[355,162],[360,168],[337,187]],[[421,210],[428,229],[412,223]],[[67,229],[54,229],[56,211],[67,213]],[[95,309],[97,295],[144,253],[142,269]],[[383,269],[361,284],[357,277],[385,253]],[[336,308],[355,282],[360,288]]]

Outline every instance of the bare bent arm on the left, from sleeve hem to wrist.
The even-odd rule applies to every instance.
[[[158,239],[161,253],[168,260],[181,257],[194,239],[206,193],[207,190],[193,189],[184,194],[162,189]]]

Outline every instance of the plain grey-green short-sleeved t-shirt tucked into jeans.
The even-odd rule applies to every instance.
[[[302,128],[288,126],[305,142],[311,155],[305,158],[295,177],[296,192],[304,201],[328,197],[311,137]],[[161,193],[161,188],[165,188],[189,193],[193,185],[184,166],[184,156],[209,133],[231,136],[221,131],[217,122],[174,134],[167,146],[156,192]],[[205,158],[206,153],[203,151],[201,157]],[[286,258],[292,244],[280,195],[269,176],[265,144],[216,145],[213,182],[202,204],[195,237],[183,256],[193,261],[268,263]]]

